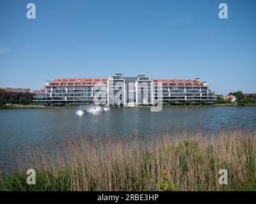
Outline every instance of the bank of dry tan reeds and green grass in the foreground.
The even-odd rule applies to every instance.
[[[38,147],[39,148],[39,147]],[[1,173],[1,191],[255,191],[256,131],[205,135],[80,137],[25,149],[19,171]],[[36,170],[36,185],[26,170]],[[218,171],[228,171],[228,185]]]

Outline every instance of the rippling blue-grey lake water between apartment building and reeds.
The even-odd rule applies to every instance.
[[[157,133],[161,129],[256,128],[256,107],[112,108],[76,115],[76,109],[0,110],[0,154],[28,143],[61,142],[74,135]],[[147,134],[146,134],[147,135]]]

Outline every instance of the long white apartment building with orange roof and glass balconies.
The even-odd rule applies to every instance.
[[[38,105],[143,106],[174,101],[191,104],[212,104],[215,101],[206,82],[195,80],[158,79],[145,75],[111,75],[109,78],[61,78],[46,82],[34,96]]]

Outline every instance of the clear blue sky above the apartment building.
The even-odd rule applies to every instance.
[[[1,0],[0,87],[123,73],[256,92],[255,20],[255,0]]]

